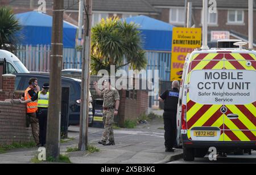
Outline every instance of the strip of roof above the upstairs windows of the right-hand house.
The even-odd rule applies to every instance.
[[[146,0],[152,6],[184,6],[183,0]],[[188,0],[193,3],[193,7],[202,7],[202,0]],[[216,0],[217,8],[248,8],[248,0]],[[254,8],[256,8],[256,1],[254,0]]]

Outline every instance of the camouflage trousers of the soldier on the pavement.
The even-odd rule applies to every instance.
[[[113,123],[114,123],[114,109],[103,110],[103,122],[104,122],[104,133],[102,135],[102,140],[114,141],[114,131],[113,131]]]

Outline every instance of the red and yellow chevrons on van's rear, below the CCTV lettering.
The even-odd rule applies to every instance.
[[[219,127],[220,141],[256,141],[256,101],[247,105],[225,105],[228,108],[225,114],[220,112],[221,106],[202,105],[189,100],[187,129],[201,126]],[[228,114],[237,114],[239,117],[229,119]],[[190,137],[188,132],[188,138]]]

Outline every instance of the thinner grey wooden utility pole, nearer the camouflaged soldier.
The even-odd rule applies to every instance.
[[[82,47],[82,88],[80,105],[79,149],[88,150],[88,113],[90,83],[90,28],[92,24],[92,0],[85,0],[84,44]]]

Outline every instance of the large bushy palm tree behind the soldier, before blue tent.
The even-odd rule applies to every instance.
[[[110,71],[110,65],[115,65],[115,70],[126,65],[141,70],[147,65],[138,26],[118,18],[102,19],[92,28],[91,53],[92,74],[101,69]]]

